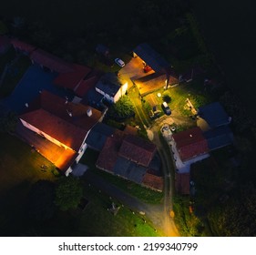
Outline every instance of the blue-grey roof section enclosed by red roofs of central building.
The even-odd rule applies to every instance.
[[[146,174],[147,168],[122,157],[118,157],[114,166],[114,173],[123,178],[141,183],[143,176]]]

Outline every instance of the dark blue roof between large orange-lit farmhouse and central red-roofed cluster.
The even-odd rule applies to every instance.
[[[86,143],[90,148],[101,150],[104,147],[107,138],[111,137],[114,132],[114,128],[111,128],[101,122],[97,123],[97,125],[90,130],[86,139]]]

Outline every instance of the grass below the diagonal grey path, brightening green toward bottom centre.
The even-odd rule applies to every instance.
[[[126,207],[120,207],[114,216],[108,209],[111,203],[108,196],[98,193],[93,186],[84,186],[88,200],[84,211],[58,211],[56,217],[48,224],[40,226],[37,232],[45,236],[106,236],[106,237],[154,237],[158,233],[150,222],[144,223],[141,215],[133,214]],[[114,201],[115,205],[120,206]]]

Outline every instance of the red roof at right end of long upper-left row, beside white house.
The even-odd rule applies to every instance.
[[[71,72],[61,72],[56,77],[54,83],[57,86],[67,87],[75,91],[80,81],[91,72],[91,68],[87,66],[72,64],[72,67],[73,70]]]

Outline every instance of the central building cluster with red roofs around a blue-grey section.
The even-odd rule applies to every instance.
[[[114,133],[107,138],[96,166],[124,179],[162,191],[163,179],[159,174],[160,160],[156,150],[155,145],[142,138],[126,135],[124,132]]]

